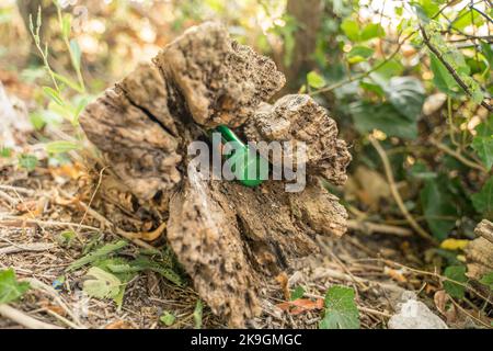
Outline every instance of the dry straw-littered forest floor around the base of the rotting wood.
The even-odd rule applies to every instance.
[[[80,294],[83,271],[67,273],[67,268],[83,256],[94,237],[106,242],[118,238],[104,229],[98,208],[88,212],[77,205],[83,197],[84,179],[90,177],[82,166],[53,168],[42,162],[30,173],[8,165],[1,165],[1,170],[0,268],[13,268],[19,279],[35,279],[56,287],[32,290],[16,308],[62,327],[159,328],[164,327],[159,320],[163,312],[176,317],[173,328],[194,326],[197,294],[193,287],[176,286],[154,272],[140,273],[130,281],[119,310],[111,299]],[[67,230],[77,233],[70,247],[60,242]],[[324,239],[321,244],[321,254],[300,260],[284,279],[267,282],[263,293],[270,297],[263,301],[263,314],[252,321],[252,327],[318,326],[318,308],[307,305],[301,313],[293,314],[277,307],[286,299],[286,284],[289,288],[303,286],[307,301],[323,298],[333,284],[353,286],[364,328],[385,328],[403,290],[421,291],[426,297],[439,288],[437,282],[425,281],[419,272],[401,265],[423,265],[420,247],[412,240],[349,231],[341,239]],[[136,249],[129,247],[123,254],[131,256]],[[65,281],[58,284],[60,276]],[[19,325],[0,318],[0,327]],[[203,327],[226,325],[205,308]]]

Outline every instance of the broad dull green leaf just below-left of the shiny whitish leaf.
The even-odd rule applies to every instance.
[[[362,133],[370,133],[379,129],[389,136],[404,139],[417,137],[417,125],[400,114],[390,103],[371,104],[369,102],[356,102],[349,105],[356,129]]]

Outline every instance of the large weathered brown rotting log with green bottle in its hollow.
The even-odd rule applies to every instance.
[[[107,89],[80,118],[118,181],[168,222],[167,240],[194,287],[232,327],[259,315],[264,281],[318,251],[317,235],[346,230],[344,207],[321,184],[321,177],[344,183],[346,144],[308,95],[267,104],[284,83],[271,59],[205,23]],[[252,140],[306,141],[306,189],[203,179],[187,167],[187,146],[221,124]]]

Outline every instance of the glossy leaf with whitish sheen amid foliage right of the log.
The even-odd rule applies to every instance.
[[[421,81],[414,77],[393,77],[382,87],[390,103],[410,121],[416,121],[425,100]]]

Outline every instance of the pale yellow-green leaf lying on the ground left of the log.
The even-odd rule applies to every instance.
[[[92,267],[85,278],[82,290],[89,296],[98,298],[116,298],[118,296],[122,282],[114,274],[99,267]]]

